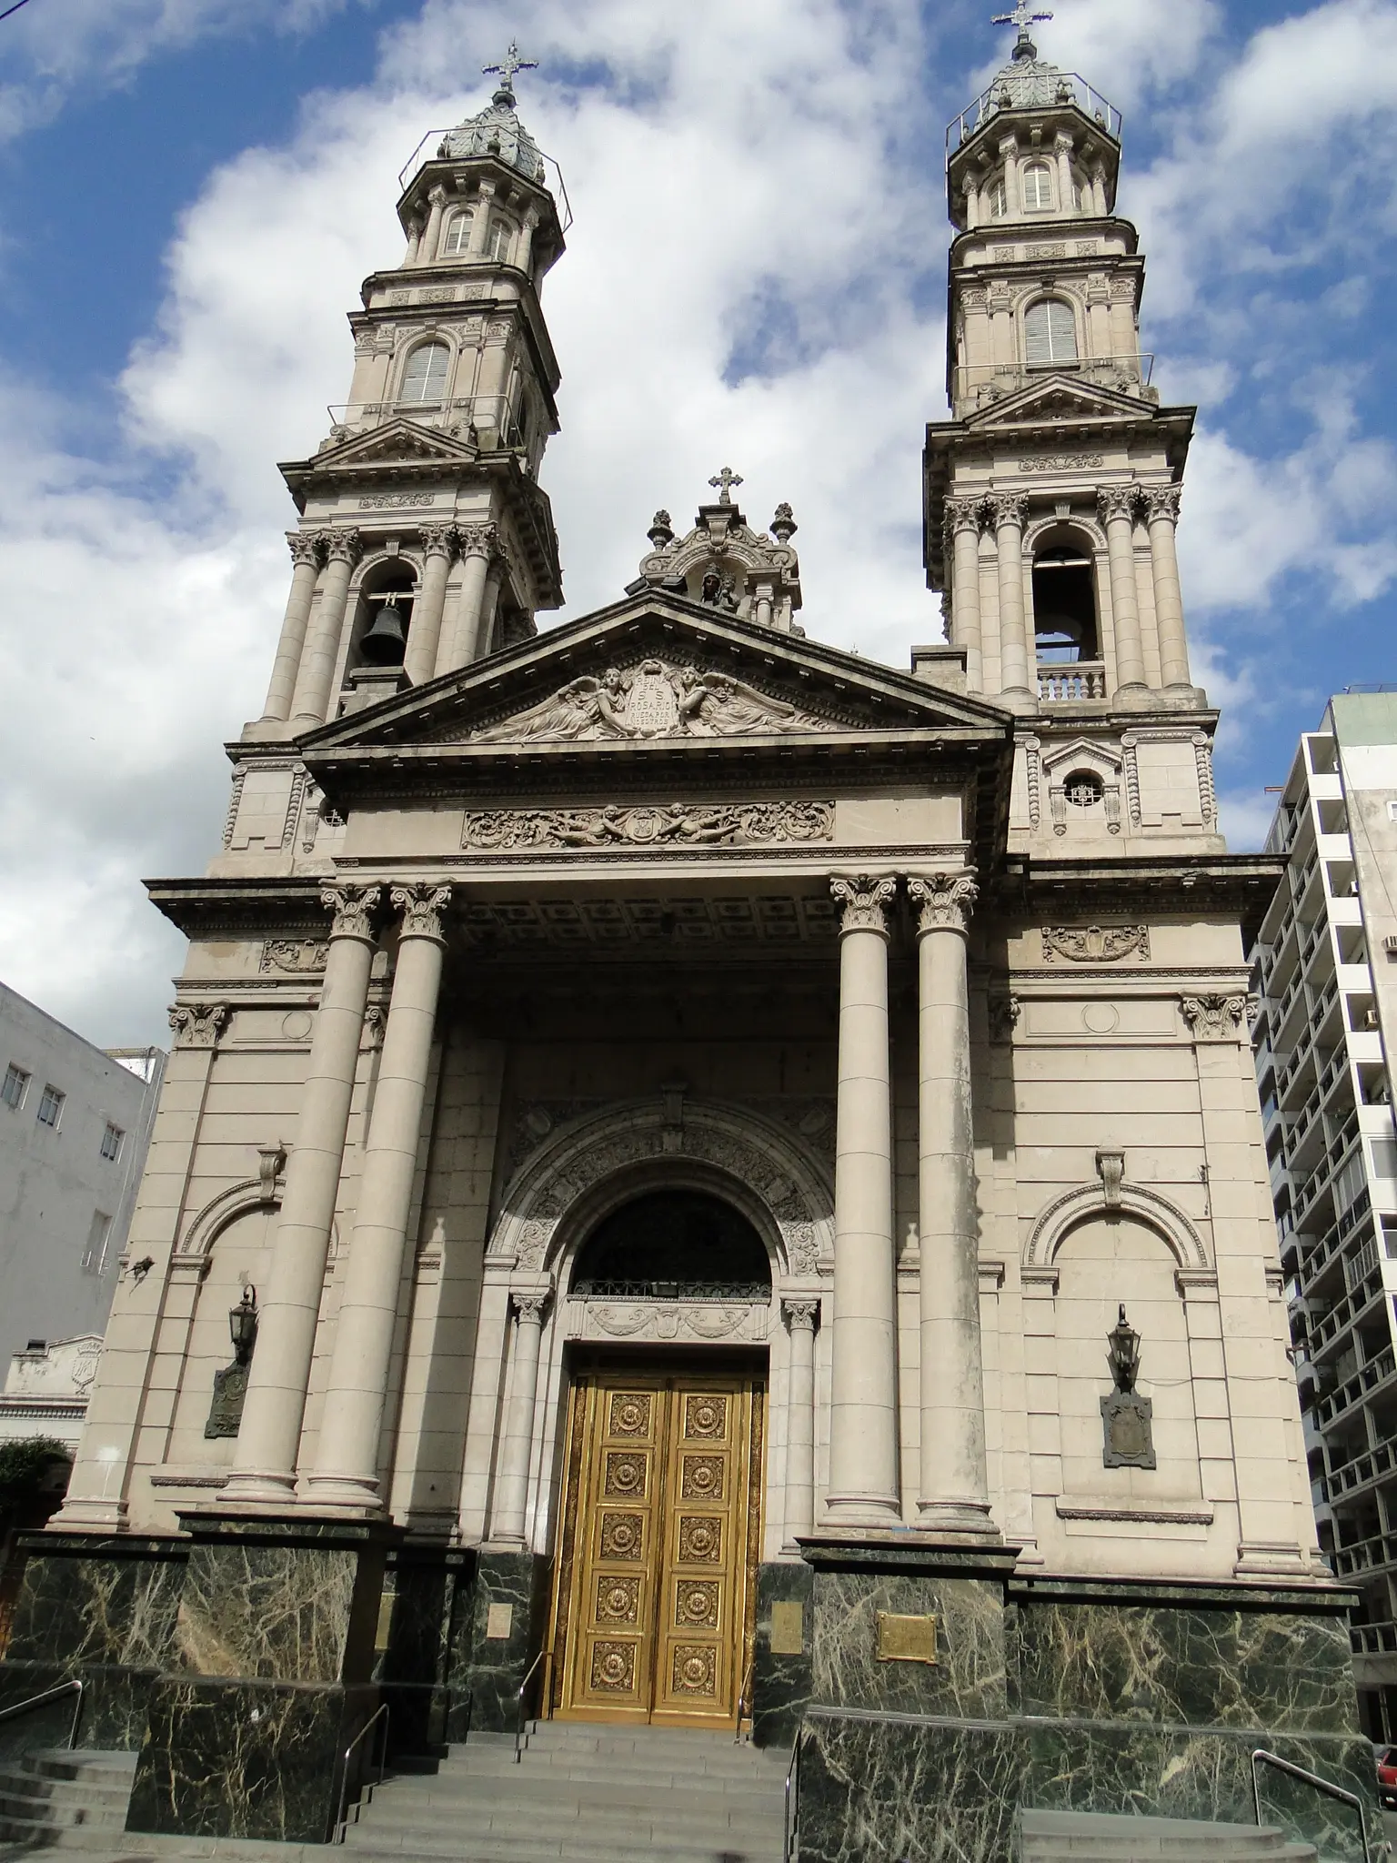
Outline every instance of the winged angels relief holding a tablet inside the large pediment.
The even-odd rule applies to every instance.
[[[643,660],[583,674],[527,712],[460,732],[475,743],[596,743],[838,730],[728,673]]]

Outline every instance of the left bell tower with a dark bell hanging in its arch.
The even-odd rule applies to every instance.
[[[563,602],[538,468],[559,386],[540,294],[566,192],[516,114],[533,65],[510,45],[484,69],[490,104],[434,130],[400,175],[406,250],[350,313],[348,401],[311,458],[281,466],[300,510],[291,596],[244,741],[453,673]]]

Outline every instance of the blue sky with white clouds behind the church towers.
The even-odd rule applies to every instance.
[[[261,712],[302,458],[345,313],[395,265],[397,175],[520,114],[576,222],[568,605],[615,600],[723,464],[795,509],[807,632],[941,633],[920,449],[946,414],[944,125],[1011,45],[982,0],[28,0],[0,20],[0,976],[102,1045],[168,1041],[224,743]],[[1397,680],[1397,0],[1058,0],[1041,54],[1125,114],[1144,348],[1198,402],[1179,555],[1255,848],[1330,691]]]

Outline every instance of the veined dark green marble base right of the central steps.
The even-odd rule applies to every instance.
[[[1011,1548],[916,1533],[801,1550],[801,1863],[1015,1863],[1023,1807],[1250,1824],[1259,1746],[1360,1792],[1380,1829],[1337,1587],[1015,1578]],[[935,1664],[879,1660],[879,1611],[933,1615]],[[1265,1792],[1360,1863],[1352,1813],[1280,1775]]]

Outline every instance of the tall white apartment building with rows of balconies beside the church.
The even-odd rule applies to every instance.
[[[1321,1546],[1363,1597],[1367,1733],[1397,1738],[1397,687],[1334,697],[1267,851],[1257,1086]]]

